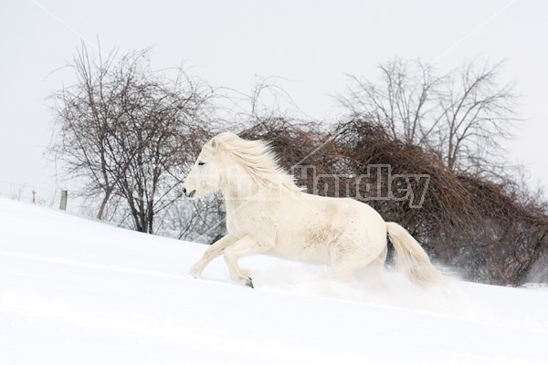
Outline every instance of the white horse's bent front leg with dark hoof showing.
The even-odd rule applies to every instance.
[[[234,245],[227,247],[224,257],[232,280],[246,287],[253,287],[253,280],[249,272],[242,270],[237,265],[237,260],[244,256],[261,254],[268,251],[272,246],[273,243],[258,242],[251,236],[246,235],[242,239],[237,240]]]

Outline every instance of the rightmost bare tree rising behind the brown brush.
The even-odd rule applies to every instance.
[[[517,121],[513,83],[500,86],[503,64],[468,62],[450,72],[437,92],[437,141],[431,147],[450,170],[485,166],[501,152]],[[457,166],[459,164],[459,166]]]

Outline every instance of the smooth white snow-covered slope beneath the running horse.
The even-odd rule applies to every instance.
[[[344,287],[250,257],[255,289],[205,245],[0,198],[1,364],[546,364],[548,290],[400,276]]]

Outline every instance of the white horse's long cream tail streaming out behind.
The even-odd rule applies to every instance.
[[[418,287],[442,281],[443,276],[432,266],[427,253],[404,227],[386,223],[386,231],[395,248],[395,268]]]

